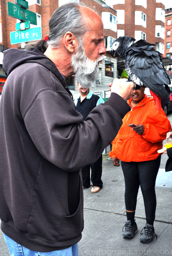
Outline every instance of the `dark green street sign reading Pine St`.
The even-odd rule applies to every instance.
[[[36,13],[26,10],[16,4],[7,2],[7,8],[8,8],[8,15],[12,16],[14,18],[17,18],[19,20],[27,21],[29,20],[30,23],[37,25],[36,20]]]

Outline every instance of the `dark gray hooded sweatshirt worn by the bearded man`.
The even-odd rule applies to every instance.
[[[2,232],[35,251],[67,248],[84,227],[79,169],[98,159],[130,108],[111,93],[82,122],[61,73],[36,49],[5,51],[3,69]]]

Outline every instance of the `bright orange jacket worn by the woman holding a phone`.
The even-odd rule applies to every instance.
[[[131,99],[128,104],[130,105]],[[156,159],[162,148],[166,133],[171,130],[170,121],[164,111],[158,111],[154,100],[144,95],[144,99],[131,109],[122,119],[123,124],[112,141],[111,158],[125,162],[141,162]],[[133,131],[129,124],[144,125],[143,135]]]

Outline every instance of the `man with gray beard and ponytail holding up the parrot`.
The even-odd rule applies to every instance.
[[[94,22],[92,22],[94,20]],[[84,228],[80,169],[94,163],[130,110],[133,83],[82,121],[65,78],[96,80],[106,52],[103,22],[78,2],[58,8],[49,35],[4,51],[0,101],[0,218],[11,255],[78,256]]]

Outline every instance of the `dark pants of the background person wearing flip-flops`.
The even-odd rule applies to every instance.
[[[97,186],[100,188],[103,187],[103,182],[101,180],[102,155],[99,157],[99,159],[94,164],[87,165],[84,168],[82,168],[83,186],[85,188],[90,187],[90,168],[92,170],[91,181],[93,183],[93,186]]]

